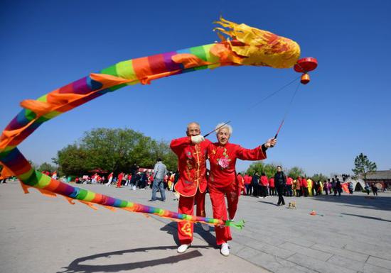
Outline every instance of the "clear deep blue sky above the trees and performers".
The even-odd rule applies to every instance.
[[[307,174],[349,173],[363,152],[378,169],[391,169],[390,13],[391,1],[1,1],[0,128],[23,99],[90,72],[213,43],[221,14],[291,38],[302,57],[318,59],[266,162]],[[275,134],[294,85],[249,106],[297,76],[293,69],[221,67],[126,87],[45,123],[19,147],[33,162],[50,162],[92,128],[171,140],[189,121],[206,133],[227,120],[232,143],[255,147]]]

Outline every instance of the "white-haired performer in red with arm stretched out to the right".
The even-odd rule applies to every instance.
[[[213,218],[228,220],[224,196],[227,197],[229,219],[233,219],[237,209],[239,194],[237,191],[236,160],[263,160],[266,150],[273,147],[277,140],[271,138],[255,149],[249,150],[240,145],[229,143],[232,127],[223,123],[216,126],[217,143],[208,145],[210,176],[208,189],[213,207]],[[228,241],[232,240],[229,227],[215,226],[216,243],[221,245],[220,253],[230,255]]]

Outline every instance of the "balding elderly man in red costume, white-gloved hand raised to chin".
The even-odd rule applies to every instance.
[[[193,215],[193,207],[197,203],[197,216],[205,217],[206,191],[206,152],[210,144],[200,135],[200,125],[188,124],[186,137],[171,141],[170,147],[178,156],[179,179],[174,189],[179,197],[178,213]],[[204,230],[209,226],[202,224]],[[178,252],[185,252],[193,241],[193,223],[178,222],[178,238],[181,244]]]

